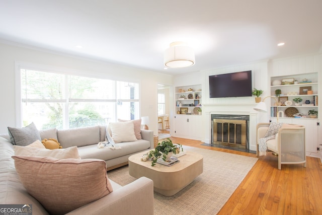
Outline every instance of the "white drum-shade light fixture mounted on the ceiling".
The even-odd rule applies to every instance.
[[[195,64],[195,53],[186,43],[173,42],[165,51],[164,63],[169,68],[192,66]]]

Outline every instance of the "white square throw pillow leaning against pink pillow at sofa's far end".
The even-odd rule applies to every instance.
[[[112,122],[109,124],[114,142],[136,141],[134,133],[134,124],[128,122]]]

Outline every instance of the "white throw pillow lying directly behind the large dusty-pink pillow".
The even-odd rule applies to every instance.
[[[59,159],[81,159],[78,154],[77,147],[69,147],[66,149],[37,149],[32,147],[21,147],[14,146],[15,148],[15,156],[37,156],[37,157],[52,157]]]

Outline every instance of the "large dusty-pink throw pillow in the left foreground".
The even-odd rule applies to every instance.
[[[12,158],[26,190],[50,214],[68,213],[113,191],[103,160]]]

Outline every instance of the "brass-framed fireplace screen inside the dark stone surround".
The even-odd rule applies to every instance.
[[[213,119],[213,144],[246,149],[246,120]]]

